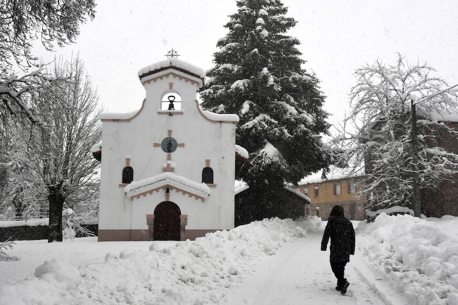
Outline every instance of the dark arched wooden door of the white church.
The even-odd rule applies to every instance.
[[[154,209],[153,240],[180,240],[180,215],[175,203],[159,203]]]

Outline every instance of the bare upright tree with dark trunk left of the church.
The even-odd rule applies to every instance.
[[[31,124],[18,130],[24,139],[16,162],[40,177],[49,202],[48,241],[62,241],[62,209],[91,200],[97,195],[99,162],[91,155],[91,146],[100,141],[101,125],[98,96],[77,57],[72,62],[59,60],[52,71],[56,78],[71,81],[44,90],[45,98],[36,102],[43,127]],[[41,92],[40,92],[41,94]]]

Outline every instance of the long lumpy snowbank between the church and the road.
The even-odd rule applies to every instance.
[[[317,217],[270,219],[159,250],[108,253],[105,262],[71,266],[45,261],[35,278],[0,288],[0,303],[204,304],[225,300],[225,289],[243,281],[263,256],[294,237],[321,228]]]

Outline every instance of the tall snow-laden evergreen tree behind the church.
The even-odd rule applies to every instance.
[[[327,168],[321,142],[327,113],[319,80],[301,65],[299,40],[285,35],[296,24],[279,0],[240,0],[218,41],[215,67],[202,89],[202,107],[236,113],[237,144],[250,155],[238,178],[250,186],[296,184]]]

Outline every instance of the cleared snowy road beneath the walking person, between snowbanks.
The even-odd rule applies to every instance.
[[[348,292],[340,295],[334,289],[336,280],[329,265],[329,247],[327,252],[320,251],[321,237],[322,232],[310,232],[308,237],[284,245],[276,255],[260,262],[257,271],[227,296],[229,301],[225,304],[406,304],[405,299],[362,266],[358,254],[350,258],[346,267],[351,283]],[[380,286],[378,291],[371,288],[376,282]]]

